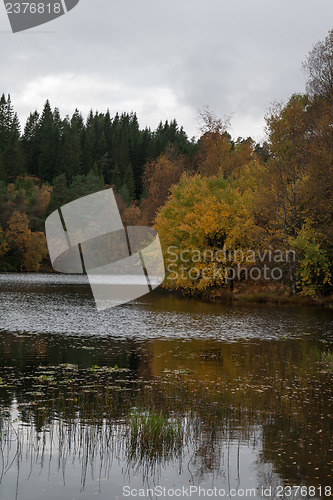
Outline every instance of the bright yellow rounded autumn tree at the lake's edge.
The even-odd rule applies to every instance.
[[[232,180],[184,174],[156,218],[165,286],[194,292],[232,282],[258,237],[250,206],[251,193]]]

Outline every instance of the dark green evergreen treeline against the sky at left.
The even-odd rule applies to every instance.
[[[182,154],[195,149],[175,120],[152,131],[140,129],[135,113],[111,117],[109,111],[91,110],[84,121],[76,109],[62,119],[48,100],[41,114],[30,113],[21,134],[10,95],[0,99],[0,181],[5,183],[27,175],[52,184],[62,174],[72,182],[94,170],[126,199],[139,199],[144,165],[170,145]]]

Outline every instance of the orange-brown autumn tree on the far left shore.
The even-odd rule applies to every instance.
[[[10,249],[19,257],[26,271],[38,271],[47,253],[45,235],[32,232],[26,214],[14,212],[8,221],[6,239]]]

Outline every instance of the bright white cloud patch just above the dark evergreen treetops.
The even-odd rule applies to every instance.
[[[170,88],[147,87],[138,95],[135,87],[124,87],[120,80],[92,78],[72,73],[46,76],[39,81],[33,80],[22,91],[12,95],[15,107],[24,111],[25,118],[21,120],[22,130],[30,111],[37,109],[41,113],[43,103],[47,99],[50,100],[52,108],[57,106],[60,109],[63,118],[66,115],[71,116],[76,107],[78,89],[81,102],[79,111],[84,119],[90,109],[93,112],[105,112],[109,109],[111,116],[116,112],[136,112],[142,128],[147,126],[155,129],[161,120],[170,121],[177,116],[179,126],[186,123],[191,128],[192,125],[192,120],[188,119],[191,109],[182,107]],[[94,107],[89,104],[92,89],[95,94]]]

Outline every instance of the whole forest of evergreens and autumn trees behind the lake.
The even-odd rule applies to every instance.
[[[49,101],[21,131],[10,96],[2,95],[0,270],[49,269],[47,215],[111,186],[125,224],[157,228],[167,288],[236,292],[251,282],[329,295],[333,31],[303,67],[306,92],[267,113],[263,144],[233,140],[228,120],[208,108],[199,116],[198,140],[175,120],[152,131],[140,129],[135,113],[91,111],[84,120],[75,110],[62,118]],[[252,272],[259,265],[264,277]],[[281,274],[274,276],[276,268]]]

